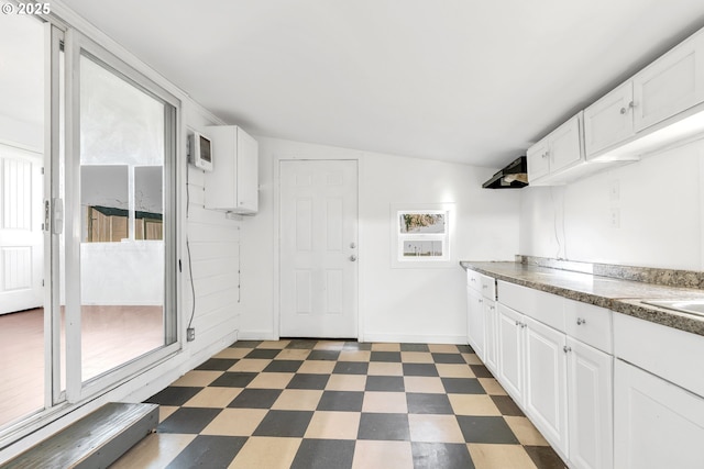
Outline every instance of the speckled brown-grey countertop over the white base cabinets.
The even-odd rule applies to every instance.
[[[571,300],[595,304],[618,313],[704,336],[704,317],[641,303],[641,301],[648,300],[704,299],[704,290],[702,289],[649,283],[618,277],[544,267],[543,265],[547,263],[532,263],[531,260],[531,258],[518,256],[515,263],[475,263],[463,260],[460,265],[465,269],[475,270],[480,273],[494,277],[497,280],[559,294]],[[590,270],[614,271],[614,269],[604,268],[604,265],[596,265],[596,269],[594,269],[592,265],[586,264],[581,264],[578,266],[578,269],[584,266],[590,266]],[[571,266],[568,267],[571,268]],[[600,267],[602,268],[600,269]],[[628,268],[618,267],[617,270],[618,275],[623,275]],[[634,268],[634,270],[640,272],[647,269]],[[662,269],[652,270],[657,270],[658,273],[663,273],[660,276],[662,278],[678,277]],[[679,271],[672,272],[679,273]],[[694,277],[698,275],[698,272],[693,273]],[[626,277],[628,277],[628,275],[626,275]],[[693,283],[690,282],[689,284]]]

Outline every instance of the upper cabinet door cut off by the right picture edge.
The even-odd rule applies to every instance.
[[[635,129],[704,101],[704,33],[697,33],[634,77]]]

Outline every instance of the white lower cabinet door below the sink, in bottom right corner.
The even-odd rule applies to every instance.
[[[704,399],[615,362],[614,467],[704,468]]]

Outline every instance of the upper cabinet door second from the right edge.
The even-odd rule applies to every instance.
[[[627,81],[584,110],[586,159],[634,134],[634,85]]]

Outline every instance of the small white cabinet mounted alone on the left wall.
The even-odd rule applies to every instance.
[[[205,176],[206,209],[253,214],[258,210],[258,144],[237,125],[209,126],[212,171]]]

